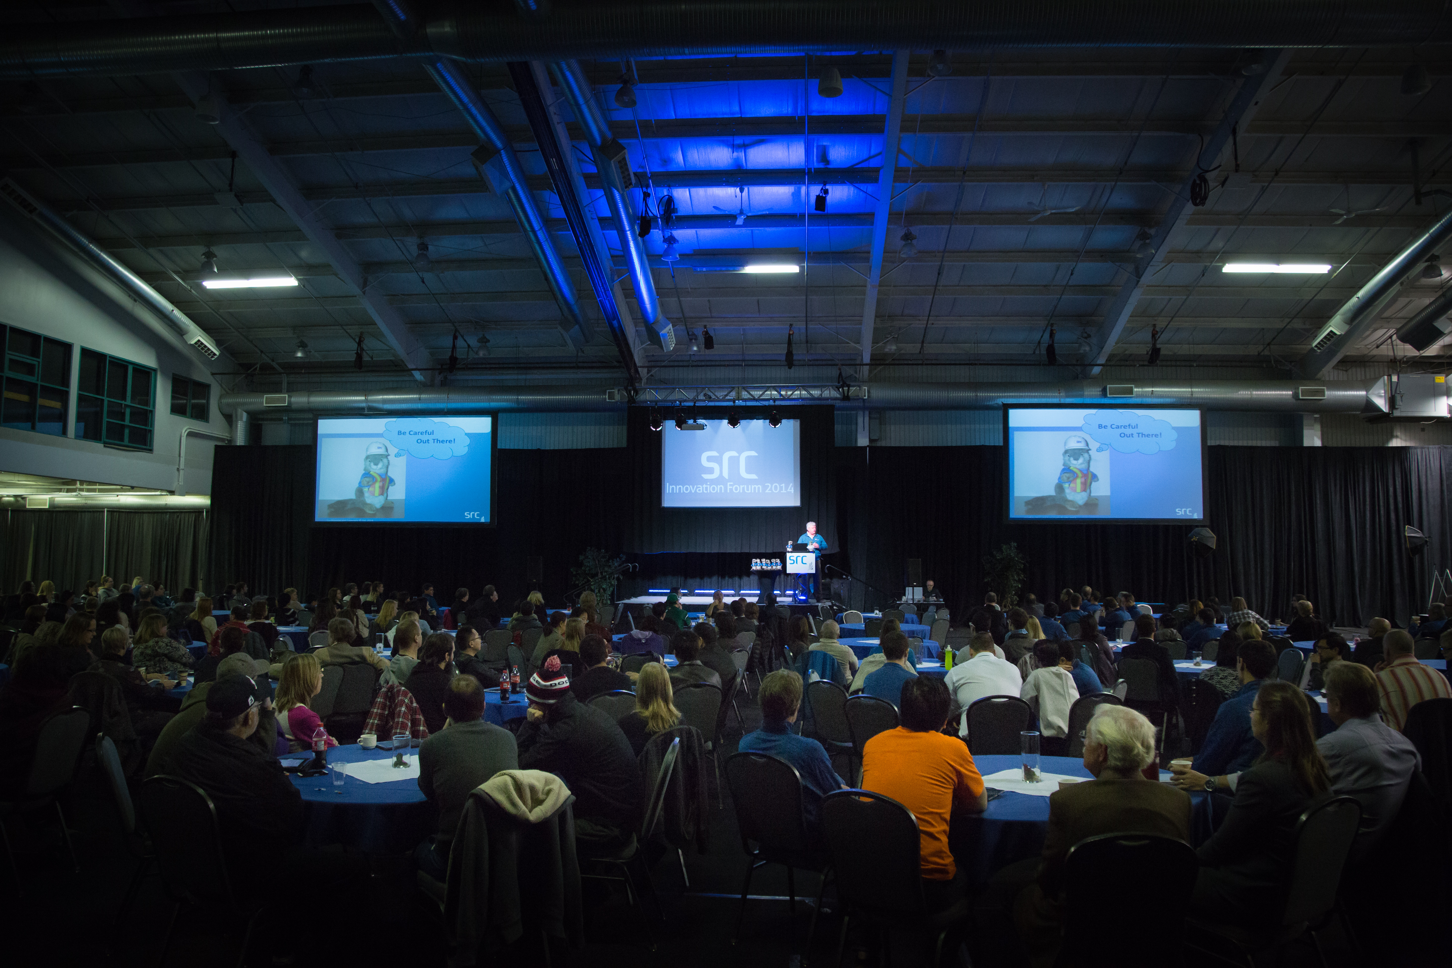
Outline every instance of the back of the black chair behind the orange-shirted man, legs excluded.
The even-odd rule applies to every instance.
[[[854,913],[921,919],[918,819],[890,797],[838,789],[822,798],[822,839],[838,898]]]

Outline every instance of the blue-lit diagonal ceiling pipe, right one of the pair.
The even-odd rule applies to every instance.
[[[600,113],[594,89],[585,80],[579,64],[576,61],[556,61],[550,64],[550,73],[565,90],[565,99],[574,109],[579,126],[585,129],[585,139],[594,152],[595,170],[600,173],[601,187],[605,190],[605,200],[616,222],[616,235],[620,237],[620,248],[624,251],[626,268],[630,273],[636,303],[640,306],[646,329],[658,347],[666,351],[674,350],[675,329],[671,327],[671,321],[661,313],[661,300],[655,293],[655,279],[650,277],[645,239],[636,235],[636,216],[627,194],[630,161],[626,158],[626,148],[610,134],[610,125]]]

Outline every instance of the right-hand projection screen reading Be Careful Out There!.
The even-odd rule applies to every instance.
[[[1205,520],[1198,409],[1008,406],[1011,521]]]

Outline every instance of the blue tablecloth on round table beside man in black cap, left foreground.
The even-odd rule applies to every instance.
[[[418,755],[415,746],[408,752]],[[293,753],[286,760],[305,759],[311,753]],[[386,749],[364,750],[357,745],[328,750],[330,763],[356,763],[366,759],[392,759]],[[292,776],[302,794],[303,836],[321,846],[341,843],[350,850],[393,853],[411,850],[434,832],[439,814],[418,781],[408,778],[391,784],[364,784],[351,776],[343,781],[341,792],[334,792],[331,776]]]

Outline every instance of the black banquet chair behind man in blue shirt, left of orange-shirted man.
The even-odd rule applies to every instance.
[[[746,852],[746,879],[741,885],[741,907],[730,940],[735,945],[741,939],[751,878],[756,868],[781,864],[787,868],[787,903],[793,914],[797,913],[796,868],[822,874],[812,924],[807,927],[806,951],[810,952],[817,913],[822,910],[822,893],[826,890],[828,865],[822,853],[812,849],[802,804],[802,775],[791,763],[767,753],[732,753],[726,760],[726,782],[730,784],[730,800],[736,808],[741,848]]]

